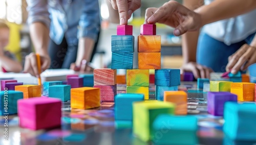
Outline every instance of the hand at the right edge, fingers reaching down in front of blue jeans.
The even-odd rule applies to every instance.
[[[256,47],[244,44],[236,53],[228,57],[226,71],[237,74],[239,70],[246,70],[248,66],[256,63]]]

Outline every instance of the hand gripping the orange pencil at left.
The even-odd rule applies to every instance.
[[[41,61],[41,72],[45,71],[49,68],[51,59],[48,54],[41,55],[40,54],[40,61]],[[37,62],[36,62],[36,55],[35,53],[30,53],[25,58],[25,65],[24,65],[24,72],[31,74],[39,78],[39,73],[37,69]]]

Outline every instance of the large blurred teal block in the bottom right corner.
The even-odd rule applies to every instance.
[[[256,139],[256,104],[227,102],[224,105],[224,133],[234,140]]]

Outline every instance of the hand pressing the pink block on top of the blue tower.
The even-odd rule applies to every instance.
[[[112,7],[119,12],[120,25],[126,25],[133,12],[140,8],[141,0],[109,0]]]

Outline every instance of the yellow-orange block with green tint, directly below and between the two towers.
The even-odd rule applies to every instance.
[[[127,69],[127,86],[150,86],[150,71],[148,69]]]

